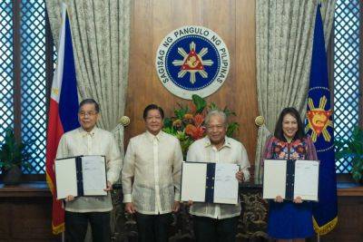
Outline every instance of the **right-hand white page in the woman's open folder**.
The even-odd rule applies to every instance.
[[[319,161],[296,160],[294,198],[318,201]]]

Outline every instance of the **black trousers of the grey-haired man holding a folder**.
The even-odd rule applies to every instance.
[[[239,217],[216,219],[193,216],[193,228],[196,241],[236,241],[238,219]]]

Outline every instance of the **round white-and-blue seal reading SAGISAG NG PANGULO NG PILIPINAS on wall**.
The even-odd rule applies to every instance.
[[[201,26],[183,26],[162,40],[156,53],[156,72],[174,95],[191,99],[216,92],[230,70],[230,54],[221,37]]]

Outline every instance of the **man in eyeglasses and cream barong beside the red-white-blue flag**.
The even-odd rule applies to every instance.
[[[100,108],[93,99],[85,99],[79,105],[78,120],[81,127],[64,133],[59,141],[57,159],[80,155],[103,155],[106,157],[107,188],[119,179],[122,158],[113,134],[96,127]],[[104,197],[68,196],[65,199],[65,239],[84,241],[88,223],[92,227],[93,241],[111,241],[110,211],[113,209],[111,195]]]

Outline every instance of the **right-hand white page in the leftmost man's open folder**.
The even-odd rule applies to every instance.
[[[84,196],[107,195],[106,168],[103,156],[83,156],[83,194]]]

